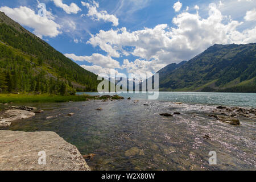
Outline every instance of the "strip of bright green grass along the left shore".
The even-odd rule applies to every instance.
[[[0,103],[33,103],[33,102],[77,102],[87,101],[88,99],[97,99],[96,96],[52,96],[47,94],[0,94]]]

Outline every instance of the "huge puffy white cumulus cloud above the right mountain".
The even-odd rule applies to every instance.
[[[198,8],[197,8],[198,9]],[[242,24],[230,19],[223,23],[224,16],[216,6],[209,6],[208,18],[188,12],[177,15],[172,22],[176,27],[159,24],[154,28],[127,31],[126,28],[104,31],[92,35],[88,43],[99,46],[110,56],[134,55],[141,59],[124,62],[123,68],[137,72],[147,67],[156,72],[170,63],[189,60],[213,44],[244,44],[256,41],[256,27],[238,31]],[[127,51],[126,47],[130,47]]]

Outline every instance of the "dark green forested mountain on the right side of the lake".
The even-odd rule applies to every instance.
[[[161,91],[256,92],[256,43],[215,44],[159,73]]]

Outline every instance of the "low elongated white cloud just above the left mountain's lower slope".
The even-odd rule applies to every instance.
[[[110,56],[101,55],[100,53],[93,53],[92,56],[76,56],[73,53],[66,53],[65,56],[74,61],[87,61],[88,63],[100,65],[105,68],[120,68],[117,60],[112,59]]]

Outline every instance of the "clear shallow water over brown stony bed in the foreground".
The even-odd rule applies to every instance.
[[[254,97],[250,100],[255,99],[255,95],[249,96]],[[7,129],[55,131],[75,144],[82,155],[96,154],[88,161],[93,170],[255,170],[255,119],[239,118],[241,125],[232,126],[208,117],[217,110],[212,99],[204,104],[199,103],[205,99],[198,104],[175,105],[170,96],[160,96],[163,97],[168,100],[135,102],[138,97],[132,95],[130,101],[27,104],[45,113],[15,122]],[[191,94],[181,94],[172,101],[181,102],[184,97],[196,101]],[[217,101],[217,105],[231,105],[227,102],[237,100],[228,97],[225,104]],[[96,110],[98,107],[102,110]],[[181,114],[170,118],[159,115],[176,111]],[[68,113],[75,115],[67,117]],[[47,120],[51,115],[57,117]],[[211,140],[203,138],[206,134]],[[209,151],[217,152],[216,166],[208,163]]]

